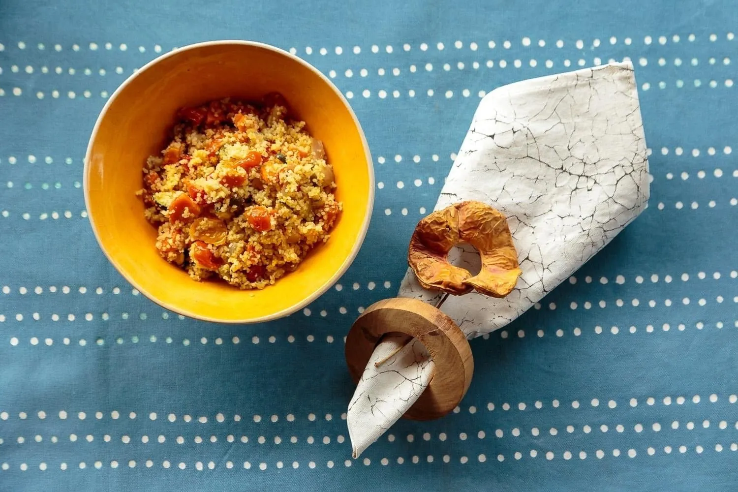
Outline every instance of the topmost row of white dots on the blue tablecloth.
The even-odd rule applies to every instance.
[[[725,37],[725,40],[726,41],[734,41],[735,34],[733,32],[726,32],[725,35],[724,35],[724,37]],[[714,33],[714,32],[707,36],[707,39],[711,43],[717,42],[717,40],[719,38],[723,38],[723,35],[718,36],[717,33]],[[672,44],[678,44],[680,41],[682,41],[681,35],[679,35],[679,34],[673,34],[673,35],[670,35],[670,36],[660,35],[658,37],[653,37],[651,35],[646,35],[646,36],[644,36],[642,42],[646,46],[649,46],[651,44],[660,44],[660,45],[664,46],[664,45],[666,45],[669,42],[671,42]],[[694,43],[694,41],[697,41],[697,35],[694,35],[694,33],[690,33],[689,35],[686,35],[686,41],[688,41],[689,43]],[[520,38],[519,41],[517,41],[517,40],[514,40],[514,41],[510,41],[510,40],[502,41],[499,44],[499,46],[501,46],[503,49],[510,49],[513,46],[513,42],[516,45],[517,45],[518,42],[520,42],[520,46],[523,46],[525,48],[531,47],[531,46],[539,46],[539,47],[543,48],[543,47],[547,46],[547,42],[544,39],[539,39],[538,41],[535,41],[534,39],[531,39],[528,36],[523,36],[522,38]],[[633,38],[626,37],[626,38],[623,38],[619,42],[621,42],[625,46],[630,46],[630,45],[633,44]],[[638,40],[636,40],[636,42],[638,42]],[[498,43],[499,43],[499,41],[487,41],[486,42],[486,46],[489,49],[494,49],[494,48],[496,48],[498,46]],[[555,42],[554,41],[548,41],[548,43],[551,44],[551,45],[554,45],[555,44],[555,46],[557,48],[559,48],[559,49],[563,48],[564,46],[567,46],[567,43],[564,40],[562,40],[562,39],[558,39]],[[587,40],[586,46],[587,46],[588,49],[593,49],[593,48],[598,48],[599,46],[602,46],[602,45],[605,45],[606,46],[607,43],[609,43],[612,46],[615,46],[616,44],[618,44],[618,38],[616,36],[610,36],[609,38],[605,37],[603,40],[601,40],[600,38],[593,38],[591,42],[589,40]],[[584,49],[585,42],[584,42],[583,39],[577,39],[576,41],[573,42],[573,45],[576,47],[576,49]],[[15,43],[15,46],[17,46],[18,49],[20,49],[20,50],[33,49],[34,48],[34,46],[32,46],[32,43],[27,44],[26,41],[17,41]],[[465,49],[465,48],[467,48],[467,49],[471,50],[472,52],[475,52],[475,51],[477,51],[477,49],[480,48],[480,46],[484,46],[484,43],[482,43],[480,45],[480,44],[477,44],[477,42],[475,42],[475,41],[471,41],[471,42],[465,44],[461,40],[456,40],[452,44],[449,43],[449,47],[450,46],[453,46],[455,49]],[[114,50],[115,49],[115,50],[118,50],[118,51],[121,51],[121,52],[127,52],[128,51],[128,44],[121,43],[121,44],[114,45],[113,43],[111,43],[109,41],[106,42],[106,43],[104,43],[104,44],[103,43],[98,44],[97,42],[94,42],[93,41],[93,42],[90,42],[89,44],[80,45],[80,44],[76,44],[75,43],[75,44],[72,44],[71,46],[65,47],[64,45],[58,44],[58,43],[57,44],[53,44],[53,45],[50,45],[49,44],[49,46],[46,46],[46,44],[44,44],[44,43],[38,43],[38,44],[35,45],[35,48],[38,49],[38,51],[44,51],[44,50],[46,50],[48,48],[49,51],[53,49],[55,52],[61,52],[64,49],[72,49],[73,52],[79,52],[79,51],[84,50],[84,49],[88,49],[89,51],[98,51],[98,50],[101,51],[103,49],[105,49],[106,51],[111,51],[111,50]],[[413,46],[411,44],[409,44],[409,43],[405,43],[405,44],[402,44],[401,45],[401,48],[402,48],[402,51],[404,51],[404,52],[410,52],[413,49]],[[428,51],[428,49],[433,49],[433,48],[437,49],[438,51],[443,51],[444,49],[446,49],[446,44],[444,44],[443,42],[438,42],[435,45],[432,44],[432,43],[431,44],[421,43],[421,44],[418,44],[418,46],[417,46],[417,49],[420,49],[421,52],[426,52],[426,51]],[[5,51],[5,49],[6,49],[5,45],[4,44],[0,44],[0,52]],[[131,51],[134,51],[135,49],[136,48],[134,46],[131,46]],[[153,48],[151,48],[151,49],[155,53],[160,53],[160,52],[164,51],[164,49],[162,49],[162,46],[160,44],[154,44]],[[176,49],[177,49],[176,46],[173,46],[171,48],[172,51],[173,50],[176,50]],[[144,45],[139,45],[138,48],[137,48],[137,50],[140,53],[145,53],[147,51],[147,47],[144,46]],[[289,52],[292,52],[293,55],[296,55],[297,54],[297,51],[298,51],[297,48],[294,48],[294,47],[292,47],[292,48],[289,49]],[[365,52],[372,52],[374,54],[379,53],[379,52],[393,53],[395,51],[400,52],[399,47],[397,49],[395,49],[395,47],[393,45],[391,45],[391,44],[390,45],[386,45],[386,46],[384,46],[382,48],[380,48],[380,46],[378,44],[373,44],[373,45],[370,45],[370,48],[368,48],[368,49],[365,50]],[[328,55],[329,52],[331,54],[332,53],[335,53],[336,55],[342,55],[344,52],[346,52],[347,54],[348,53],[354,53],[354,55],[359,55],[360,53],[362,53],[362,47],[356,45],[352,49],[348,49],[347,48],[344,51],[344,49],[342,48],[342,46],[335,46],[334,48],[332,48],[330,50],[327,49],[327,48],[324,48],[324,47],[323,48],[315,48],[315,49],[313,49],[311,46],[306,46],[304,49],[302,49],[302,52],[304,52],[306,55],[312,55],[313,53],[315,53],[315,54],[320,54],[320,55],[323,55],[323,56]]]

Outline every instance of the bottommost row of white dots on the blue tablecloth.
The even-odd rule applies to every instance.
[[[724,447],[722,444],[717,443],[714,446],[714,450],[717,453],[720,453],[724,449],[727,449],[727,448],[730,448],[731,451],[738,451],[738,444],[737,443],[731,443],[730,445],[727,445],[726,444],[725,447]],[[674,448],[672,448],[672,446],[664,446],[663,447],[663,453],[664,454],[672,454],[672,451],[674,451],[674,452],[678,451],[680,454],[685,454],[688,451],[688,448],[685,445],[681,445],[681,446],[675,445]],[[694,446],[694,453],[696,453],[696,454],[702,454],[704,451],[705,451],[705,448],[703,446],[701,446],[699,444],[697,446]],[[574,452],[576,453],[576,451],[574,451]],[[656,452],[657,452],[656,449],[653,448],[652,446],[649,446],[648,448],[646,448],[646,454],[648,454],[649,456],[653,456],[654,454],[656,454]],[[596,456],[598,460],[602,460],[607,455],[602,449],[597,449],[596,451],[590,451],[590,453],[593,454],[594,456]],[[545,459],[548,460],[548,461],[554,460],[556,457],[562,458],[563,460],[571,460],[574,457],[574,454],[572,453],[572,451],[563,451],[561,454],[556,454],[556,453],[554,453],[554,451],[539,451],[537,449],[531,449],[530,451],[526,451],[526,454],[528,454],[528,456],[530,456],[531,458],[536,458],[536,457],[539,457],[539,456],[541,458],[545,457]],[[627,449],[627,451],[624,450],[624,451],[621,452],[620,449],[614,448],[611,451],[611,454],[612,454],[613,457],[627,456],[629,458],[635,458],[636,456],[638,456],[638,451],[636,451],[635,448],[629,448],[629,449]],[[587,455],[587,451],[579,451],[579,454],[577,454],[577,456],[579,457],[579,460],[586,460],[587,459],[587,456],[588,456]],[[508,455],[508,457],[509,457],[509,455]],[[512,455],[512,457],[514,457],[514,460],[521,460],[521,459],[523,459],[523,453],[521,451],[515,451],[514,454]],[[487,461],[486,454],[479,454],[479,455],[477,455],[476,460],[478,462],[480,462],[480,463],[486,462]],[[503,462],[505,460],[506,460],[506,457],[505,457],[504,454],[497,454],[497,461],[498,462]],[[429,454],[426,457],[424,457],[424,459],[422,461],[423,462],[426,462],[426,463],[432,463],[432,462],[435,462],[435,457],[433,457],[432,454]],[[442,462],[448,464],[449,462],[451,462],[451,456],[449,454],[444,454],[443,457],[441,457],[441,459],[439,461],[442,461]],[[358,463],[359,460],[356,460],[356,462]],[[382,466],[387,466],[387,465],[390,464],[390,460],[388,460],[386,457],[378,460],[378,462]],[[397,462],[398,465],[403,465],[406,462],[406,460],[405,460],[404,457],[398,457],[396,459],[396,462]],[[421,462],[421,457],[419,457],[418,455],[414,455],[413,457],[408,458],[407,459],[407,462],[408,463],[412,462],[413,464],[417,465],[418,463]],[[458,462],[461,463],[462,465],[465,465],[466,463],[469,462],[469,457],[461,456],[458,459]],[[363,460],[361,460],[361,463],[363,465],[365,465],[365,466],[370,466],[372,464],[372,460],[370,460],[370,458],[364,458]],[[128,468],[129,469],[136,468],[138,464],[139,463],[137,463],[136,460],[128,460]],[[145,462],[143,462],[143,464],[145,465],[146,468],[152,468],[154,466],[154,461],[153,460],[145,460]],[[345,460],[343,464],[344,464],[344,466],[346,468],[349,468],[349,467],[351,467],[354,464],[354,461],[352,461],[352,460]],[[172,463],[169,460],[164,460],[162,462],[162,464],[161,464],[162,468],[165,468],[165,469],[171,468],[173,465],[176,465],[176,468],[179,468],[180,470],[187,469],[187,463],[184,462],[184,461],[179,462],[179,464],[176,464],[176,462],[175,463]],[[192,464],[190,463],[190,466],[191,465]],[[332,460],[328,460],[328,462],[325,463],[325,467],[326,468],[334,468],[335,465],[336,465],[336,463],[333,462]],[[66,471],[67,469],[69,469],[69,465],[66,462],[61,462],[58,466],[59,466],[59,469],[62,470],[62,471]],[[78,468],[80,468],[80,470],[83,470],[85,468],[88,468],[86,462],[83,462],[83,461],[79,462],[79,465],[77,465],[77,466],[78,466]],[[99,460],[98,461],[95,461],[92,466],[94,466],[95,469],[98,469],[99,470],[100,468],[103,468],[103,462],[102,461],[99,461]],[[112,460],[110,462],[109,466],[110,466],[110,468],[113,468],[113,469],[116,469],[116,468],[119,468],[119,467],[125,469],[125,460],[123,460],[123,466],[117,460]],[[227,469],[232,469],[232,468],[235,467],[235,464],[234,464],[234,462],[232,462],[232,461],[229,460],[229,461],[226,461],[224,463],[224,466]],[[289,466],[286,466],[285,463],[282,462],[282,461],[277,461],[274,466],[278,470],[280,470],[282,468],[289,468]],[[194,463],[194,468],[197,471],[204,471],[204,468],[205,467],[206,467],[206,465],[204,465],[204,462],[202,462],[202,461],[196,461]],[[207,462],[207,469],[208,470],[215,470],[216,467],[218,467],[218,465],[216,465],[216,463],[214,461]],[[257,465],[256,464],[252,465],[251,462],[244,461],[243,467],[244,467],[244,469],[249,470],[251,468],[257,468]],[[314,461],[309,461],[308,462],[308,468],[314,469],[316,467],[317,467],[317,463],[316,462],[314,462]],[[222,466],[221,466],[221,468],[222,468]],[[292,468],[293,469],[300,468],[300,462],[293,461],[292,462]],[[13,469],[15,469],[15,468],[13,468]],[[40,462],[38,464],[38,469],[40,471],[46,471],[47,469],[49,469],[49,465],[47,465],[46,462]],[[269,469],[269,465],[266,462],[260,462],[258,464],[258,469],[261,470],[261,471],[266,471],[267,469]],[[1,471],[8,471],[8,470],[10,470],[10,464],[8,462],[3,462],[0,465],[0,470]],[[28,464],[26,462],[21,462],[21,464],[18,465],[18,470],[20,470],[20,471],[28,471],[29,470],[29,466],[28,466]]]

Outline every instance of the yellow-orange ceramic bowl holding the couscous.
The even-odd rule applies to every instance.
[[[294,115],[325,145],[343,212],[327,243],[297,270],[261,291],[199,283],[156,252],[145,220],[147,156],[159,153],[178,108],[223,97],[282,93]],[[272,46],[213,41],[176,49],[125,80],[100,113],[85,157],[84,190],[92,229],[115,268],[146,297],[176,313],[213,322],[252,323],[286,316],[331,287],[359,251],[374,201],[369,148],[336,87],[313,66]]]

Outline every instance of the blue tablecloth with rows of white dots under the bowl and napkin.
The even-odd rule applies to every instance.
[[[737,30],[732,0],[4,0],[0,491],[735,490]],[[159,52],[218,38],[329,75],[375,158],[354,265],[263,325],[182,319],[132,291],[80,185],[108,94]],[[351,460],[343,337],[396,294],[480,95],[625,57],[649,209],[538,309],[472,342],[458,412],[403,420]]]

